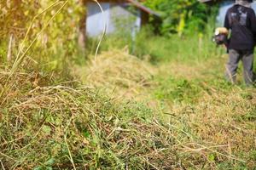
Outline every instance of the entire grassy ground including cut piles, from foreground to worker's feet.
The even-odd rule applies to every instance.
[[[0,168],[256,169],[256,90],[224,81],[224,51],[197,35],[140,42],[105,44],[68,81],[5,83],[3,67]]]

